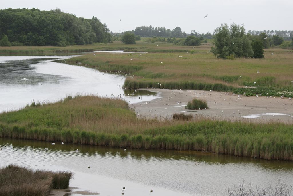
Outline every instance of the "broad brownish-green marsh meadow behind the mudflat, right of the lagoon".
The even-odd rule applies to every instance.
[[[91,65],[101,71],[130,73],[134,77],[125,81],[126,88],[233,91],[248,96],[293,95],[292,50],[269,49],[265,51],[264,59],[234,60],[217,59],[207,53],[206,46],[199,46],[196,50],[200,52],[86,54],[67,61]],[[271,55],[272,51],[275,55]]]

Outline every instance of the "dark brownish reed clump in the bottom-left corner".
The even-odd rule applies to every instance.
[[[8,165],[0,169],[0,195],[46,196],[50,189],[68,188],[71,172],[52,172]]]

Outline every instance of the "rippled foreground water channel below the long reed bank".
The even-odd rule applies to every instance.
[[[196,151],[131,150],[0,138],[0,166],[72,170],[71,187],[100,195],[227,195],[242,180],[293,185],[293,162]],[[4,147],[6,146],[6,147]],[[49,148],[49,150],[44,150]],[[74,151],[79,149],[79,152]],[[90,168],[87,168],[87,165]]]

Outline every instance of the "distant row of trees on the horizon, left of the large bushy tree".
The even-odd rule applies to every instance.
[[[193,35],[196,37],[203,37],[205,39],[212,38],[211,33],[206,34],[200,34],[199,32],[196,32],[195,30],[192,30],[190,34],[182,32],[180,27],[176,27],[173,30],[166,29],[165,27],[152,27],[149,26],[141,26],[137,27],[135,30],[132,30],[135,35],[139,35],[141,37],[171,37],[171,38],[185,38],[188,35]]]

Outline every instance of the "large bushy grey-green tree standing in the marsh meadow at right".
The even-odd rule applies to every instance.
[[[215,48],[212,47],[212,52],[218,58],[234,57],[252,57],[253,50],[251,40],[245,35],[245,29],[240,25],[232,24],[229,26],[223,23],[220,27],[214,30]]]

